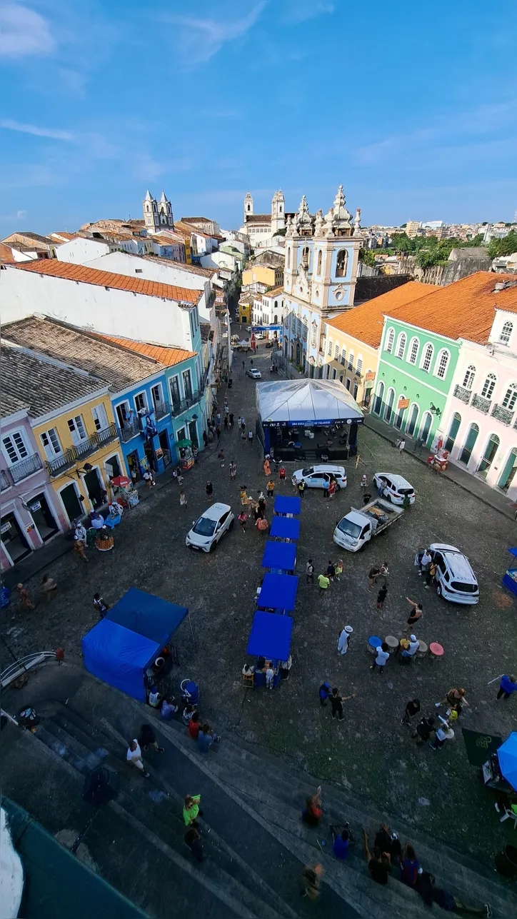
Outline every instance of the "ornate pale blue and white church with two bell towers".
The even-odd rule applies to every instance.
[[[360,211],[345,207],[340,185],[331,209],[309,213],[305,195],[298,213],[287,217],[284,269],[284,354],[309,377],[321,378],[325,320],[354,306]]]

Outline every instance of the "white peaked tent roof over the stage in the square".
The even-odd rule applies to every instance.
[[[339,380],[257,383],[257,407],[263,423],[271,425],[363,420],[359,405]]]

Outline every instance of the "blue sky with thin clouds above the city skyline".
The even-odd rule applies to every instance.
[[[517,4],[0,0],[0,235],[242,199],[511,221]]]

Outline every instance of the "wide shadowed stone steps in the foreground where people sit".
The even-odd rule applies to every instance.
[[[131,705],[138,711],[137,720],[154,719],[150,709]],[[142,884],[154,887],[161,876],[174,889],[178,917],[191,916],[193,910],[218,919],[222,915],[291,919],[320,911],[365,919],[429,915],[421,898],[399,881],[398,872],[393,872],[387,887],[370,879],[361,851],[362,827],[372,844],[378,825],[388,818],[366,811],[364,803],[345,789],[323,786],[324,821],[320,832],[315,832],[301,822],[300,810],[318,780],[241,741],[223,737],[203,755],[181,722],[156,720],[166,754],[146,757],[152,773],[146,781],[126,764],[127,738],[107,720],[91,725],[55,702],[39,711],[42,718],[35,736],[60,758],[64,771],[83,777],[100,763],[118,770],[117,799],[99,811],[85,843],[103,876],[149,913],[170,915],[170,899],[165,896],[162,900],[154,896],[152,902],[141,895],[137,899]],[[200,821],[208,856],[202,865],[192,859],[184,842],[185,782],[192,793],[201,790],[203,807],[207,799],[211,805]],[[345,820],[356,843],[341,863],[332,856],[328,826]],[[515,915],[515,891],[491,867],[478,865],[402,823],[390,823],[402,842],[410,839],[438,886],[466,903],[490,902],[494,919]],[[107,846],[107,838],[114,845]],[[135,859],[132,889],[118,853],[129,862]],[[299,898],[298,884],[302,864],[317,860],[325,874],[320,902],[314,904]],[[437,909],[433,907],[435,913]]]

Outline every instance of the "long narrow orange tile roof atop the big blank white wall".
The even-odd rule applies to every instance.
[[[163,297],[164,300],[174,300],[176,302],[197,303],[201,297],[201,291],[199,290],[173,287],[172,284],[146,281],[143,278],[128,278],[126,275],[116,275],[111,271],[99,271],[97,268],[88,268],[84,265],[59,262],[54,258],[41,259],[35,262],[18,262],[16,267],[22,271],[32,271],[51,278],[64,278],[65,280],[79,281],[83,284],[96,284],[98,287],[117,290],[132,290],[134,293],[140,293],[146,297]]]

